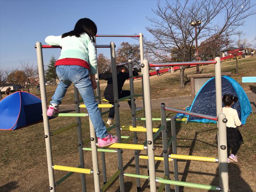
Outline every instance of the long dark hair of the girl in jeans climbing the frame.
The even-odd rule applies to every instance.
[[[61,38],[67,37],[67,36],[76,36],[80,37],[82,34],[86,33],[93,42],[94,36],[97,34],[97,26],[96,24],[88,19],[88,18],[82,18],[76,22],[74,30],[62,34]]]

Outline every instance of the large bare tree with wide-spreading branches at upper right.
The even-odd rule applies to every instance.
[[[206,44],[194,46],[196,39],[207,41],[207,45],[200,54],[204,54],[219,38],[227,38],[238,34],[237,28],[244,24],[244,20],[254,14],[250,8],[254,6],[248,0],[194,0],[194,1],[166,1],[161,6],[158,1],[155,18],[148,18],[152,26],[146,29],[154,36],[153,40],[144,40],[149,53],[162,61],[166,54],[175,50],[179,61],[193,61],[196,59],[196,50]],[[222,18],[222,20],[217,20]],[[197,22],[197,31],[194,33],[192,22]],[[200,55],[198,55],[200,56]],[[167,57],[168,58],[168,57]],[[168,61],[171,62],[171,61]],[[184,86],[184,70],[180,70],[180,87]]]

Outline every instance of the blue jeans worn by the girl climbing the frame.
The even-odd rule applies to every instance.
[[[84,104],[88,110],[92,120],[96,136],[104,138],[107,136],[106,126],[102,120],[98,103],[95,100],[92,82],[89,78],[90,72],[88,69],[76,65],[59,65],[56,67],[56,74],[60,79],[60,83],[52,96],[51,104],[61,104],[68,87],[71,83],[78,89],[84,100]]]

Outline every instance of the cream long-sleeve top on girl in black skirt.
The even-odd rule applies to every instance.
[[[226,124],[227,127],[236,128],[236,126],[240,126],[242,124],[235,109],[231,107],[223,107],[222,113],[226,115],[228,120]]]

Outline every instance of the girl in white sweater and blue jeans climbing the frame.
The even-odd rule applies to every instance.
[[[58,106],[61,100],[71,83],[74,83],[88,110],[98,137],[98,146],[104,147],[118,142],[118,137],[107,133],[94,96],[93,90],[97,88],[95,80],[97,54],[94,44],[96,33],[96,24],[88,18],[82,18],[76,22],[74,30],[60,36],[45,38],[48,45],[62,47],[60,58],[55,64],[60,83],[50,101],[47,116],[53,116],[59,112]]]

